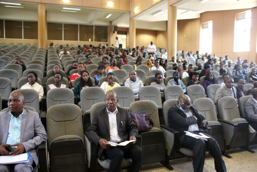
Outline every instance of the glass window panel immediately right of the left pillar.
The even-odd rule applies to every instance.
[[[62,40],[62,23],[47,23],[47,40]]]

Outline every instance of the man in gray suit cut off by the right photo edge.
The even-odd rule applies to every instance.
[[[253,97],[245,102],[244,110],[247,118],[257,120],[257,88],[252,91]]]

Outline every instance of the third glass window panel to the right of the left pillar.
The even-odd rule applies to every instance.
[[[79,41],[94,41],[94,26],[93,25],[79,25]]]

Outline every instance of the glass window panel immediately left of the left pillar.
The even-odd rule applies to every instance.
[[[23,21],[23,39],[38,39],[38,22]]]

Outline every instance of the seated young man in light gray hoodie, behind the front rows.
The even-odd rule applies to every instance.
[[[139,100],[139,88],[143,87],[144,85],[143,82],[136,77],[136,71],[130,71],[129,78],[126,79],[124,85],[132,88],[134,92],[135,101]]]

